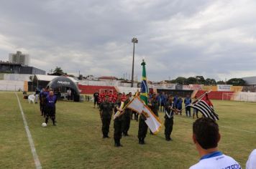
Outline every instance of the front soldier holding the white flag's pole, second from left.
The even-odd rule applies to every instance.
[[[114,103],[114,114],[116,115],[116,112],[122,112],[122,94],[119,93],[117,96],[117,100]],[[120,108],[121,107],[121,108]],[[116,115],[116,118],[114,119],[114,146],[115,147],[122,147],[120,140],[122,138],[122,115],[118,116]]]

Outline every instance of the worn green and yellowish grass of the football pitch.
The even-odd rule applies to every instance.
[[[0,92],[0,168],[35,168],[14,92]],[[114,140],[102,139],[99,111],[91,102],[58,102],[57,126],[41,127],[39,105],[28,104],[19,93],[24,115],[42,168],[189,168],[198,162],[192,143],[192,118],[174,117],[173,141],[167,142],[164,127],[147,135],[146,145],[137,140],[138,123],[131,122],[130,137],[123,148]],[[220,120],[219,150],[232,156],[244,168],[256,148],[256,103],[213,100]],[[160,112],[163,119],[163,112]],[[113,137],[113,121],[110,136]]]

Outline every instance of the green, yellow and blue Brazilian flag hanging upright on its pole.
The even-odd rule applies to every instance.
[[[148,88],[147,88],[147,75],[146,75],[146,62],[144,59],[142,60],[142,85],[140,88],[140,99],[145,102],[145,105],[147,105],[147,94],[148,94]]]

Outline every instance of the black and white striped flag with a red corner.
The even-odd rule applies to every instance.
[[[212,105],[209,100],[207,93],[201,100],[196,100],[196,102],[191,103],[189,106],[200,111],[204,117],[211,118],[212,120],[219,120],[219,115],[214,112],[214,105]]]

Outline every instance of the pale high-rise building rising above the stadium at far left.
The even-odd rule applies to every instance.
[[[22,54],[22,52],[17,51],[16,54],[9,54],[9,62],[22,64],[23,66],[29,66],[30,57],[29,54]]]

